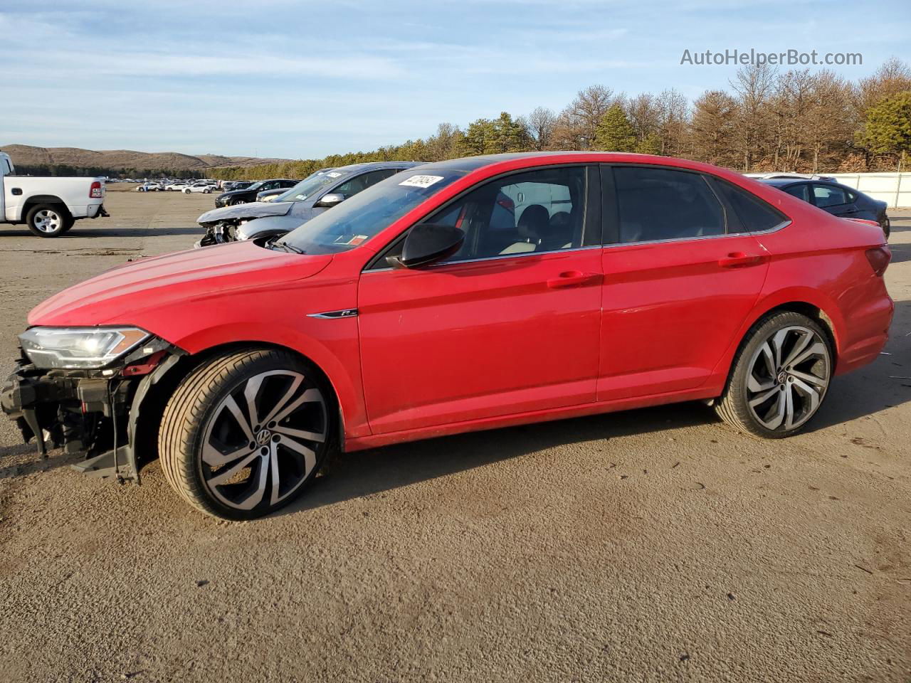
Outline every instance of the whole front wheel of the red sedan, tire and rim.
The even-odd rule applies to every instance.
[[[334,449],[332,393],[291,352],[204,363],[171,396],[159,430],[168,483],[207,515],[269,515],[299,496]]]

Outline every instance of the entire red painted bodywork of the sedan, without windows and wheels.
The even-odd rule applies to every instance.
[[[698,170],[765,199],[791,222],[752,236],[363,272],[463,190],[561,163]],[[490,158],[356,249],[307,256],[238,242],[138,260],[50,298],[29,323],[136,325],[190,353],[236,342],[285,346],[332,382],[345,447],[355,450],[717,396],[752,324],[795,302],[823,311],[836,372],[848,372],[874,360],[887,339],[893,304],[865,258],[882,241],[878,226],[683,159],[507,156]],[[548,286],[563,273],[585,277],[576,287]],[[312,317],[354,308],[356,317]]]

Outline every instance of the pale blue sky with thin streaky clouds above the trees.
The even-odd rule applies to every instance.
[[[322,157],[736,70],[684,49],[860,52],[856,78],[909,35],[906,0],[0,0],[0,144]]]

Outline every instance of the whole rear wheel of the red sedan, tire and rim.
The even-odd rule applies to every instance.
[[[735,429],[780,439],[803,429],[823,404],[834,371],[822,326],[783,311],[753,325],[734,357],[718,416]]]

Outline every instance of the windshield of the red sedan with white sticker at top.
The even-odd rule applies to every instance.
[[[287,244],[292,250],[306,254],[353,250],[466,174],[451,168],[423,170],[423,173],[404,171],[386,178],[307,221],[276,244]]]

